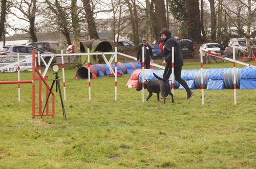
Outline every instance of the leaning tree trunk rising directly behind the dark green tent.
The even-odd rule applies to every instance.
[[[93,17],[93,11],[91,9],[90,0],[82,0],[83,3],[83,9],[86,12],[86,20],[88,24],[88,32],[90,39],[99,39],[95,20]]]

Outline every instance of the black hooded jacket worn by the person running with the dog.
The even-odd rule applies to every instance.
[[[180,45],[178,41],[172,37],[167,36],[164,39],[165,45],[163,46],[163,53],[165,57],[165,62],[172,63],[172,47],[174,47],[174,67],[183,66],[183,58],[180,51]],[[170,64],[171,66],[172,64]]]

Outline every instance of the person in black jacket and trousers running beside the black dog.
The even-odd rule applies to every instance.
[[[163,61],[163,65],[165,65],[163,78],[168,80],[170,74],[172,74],[172,47],[174,47],[174,77],[175,80],[177,80],[180,85],[182,85],[186,90],[186,99],[190,99],[194,95],[194,93],[189,89],[186,81],[181,78],[183,58],[180,51],[180,45],[178,41],[171,35],[172,33],[166,28],[163,28],[160,32],[161,39],[165,43],[165,45],[163,46],[163,53],[165,57],[165,60]]]

